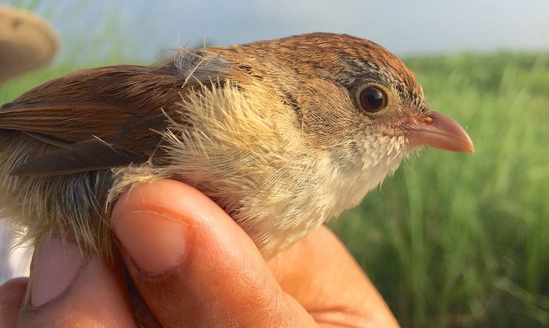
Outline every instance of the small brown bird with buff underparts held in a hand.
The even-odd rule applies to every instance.
[[[41,238],[74,229],[109,255],[109,211],[164,177],[214,200],[268,259],[422,146],[472,152],[412,73],[328,33],[182,48],[153,66],[71,73],[0,108],[0,215]]]

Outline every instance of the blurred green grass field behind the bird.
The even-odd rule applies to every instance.
[[[77,68],[135,64],[124,41],[105,48],[115,24],[103,29],[0,85],[0,103]],[[467,126],[476,153],[426,149],[329,225],[402,327],[548,327],[549,54],[404,60],[431,108]]]

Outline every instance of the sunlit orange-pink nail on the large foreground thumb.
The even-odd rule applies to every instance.
[[[113,231],[145,276],[158,276],[185,261],[189,225],[164,213],[133,211],[111,219]]]

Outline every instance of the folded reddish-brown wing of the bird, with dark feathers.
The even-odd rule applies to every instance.
[[[144,162],[160,144],[167,115],[181,110],[182,98],[200,90],[197,84],[225,77],[229,67],[185,50],[156,66],[80,70],[38,86],[0,107],[0,129],[62,148],[12,173],[63,174]]]

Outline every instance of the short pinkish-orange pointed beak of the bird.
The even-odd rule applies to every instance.
[[[469,135],[454,119],[433,110],[406,124],[404,135],[412,146],[431,146],[444,151],[474,153]]]

